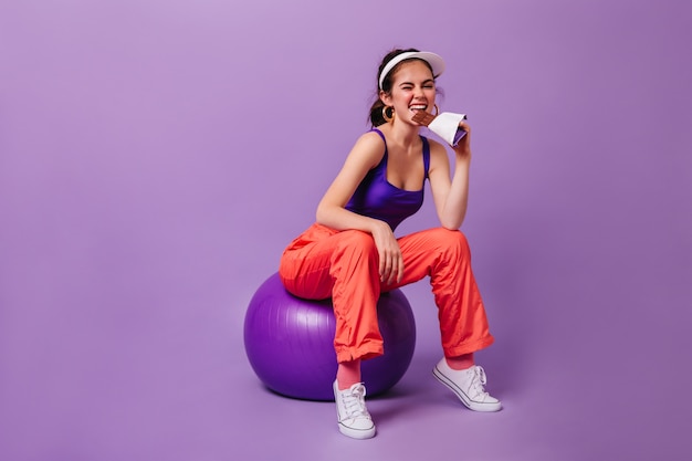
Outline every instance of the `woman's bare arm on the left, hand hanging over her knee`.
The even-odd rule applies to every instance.
[[[348,211],[345,206],[367,172],[379,164],[385,145],[375,133],[367,133],[356,142],[340,171],[317,206],[317,222],[337,230],[355,229],[370,233],[379,254],[380,280],[400,281],[403,259],[388,223]]]

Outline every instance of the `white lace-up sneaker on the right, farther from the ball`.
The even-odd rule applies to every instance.
[[[442,358],[432,369],[440,383],[449,387],[463,405],[474,411],[499,411],[502,404],[485,391],[485,370],[479,365],[455,370]]]

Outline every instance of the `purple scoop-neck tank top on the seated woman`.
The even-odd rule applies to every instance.
[[[380,219],[387,222],[391,230],[395,230],[401,221],[418,211],[423,203],[423,186],[430,168],[430,146],[428,139],[421,136],[426,175],[420,185],[420,190],[399,189],[387,181],[387,139],[379,129],[373,128],[373,130],[379,134],[385,142],[385,155],[358,185],[353,197],[346,203],[346,209],[358,214]]]

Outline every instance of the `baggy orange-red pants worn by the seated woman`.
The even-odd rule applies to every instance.
[[[313,224],[285,249],[279,274],[298,297],[332,297],[336,316],[337,362],[384,354],[377,300],[387,292],[430,276],[445,357],[473,353],[493,343],[471,253],[461,231],[429,229],[397,239],[403,256],[399,283],[379,280],[379,256],[369,233]]]

